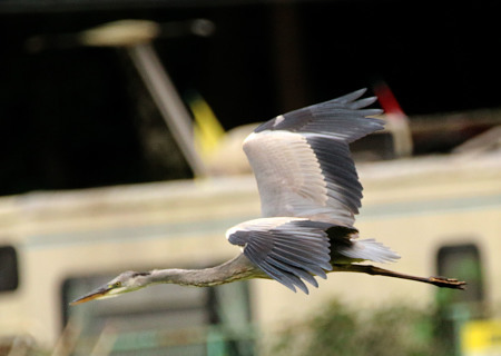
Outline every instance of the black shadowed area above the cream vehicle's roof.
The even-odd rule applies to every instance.
[[[210,37],[155,47],[180,95],[200,93],[226,129],[380,80],[411,125],[501,105],[493,2],[3,1],[0,195],[191,177],[124,50],[75,40],[129,18],[214,22]],[[27,44],[39,34],[43,49]],[[416,136],[415,152],[473,134],[445,146]]]

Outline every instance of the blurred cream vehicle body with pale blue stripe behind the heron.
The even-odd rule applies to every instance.
[[[365,188],[361,236],[402,256],[385,267],[423,276],[470,273],[469,291],[452,298],[490,309],[501,303],[500,152],[362,164],[358,171]],[[308,296],[252,280],[216,288],[153,286],[68,306],[122,270],[229,259],[239,251],[225,230],[258,216],[250,176],[2,197],[0,338],[28,335],[52,348],[70,322],[77,355],[106,345],[116,355],[138,348],[141,355],[210,355],[222,347],[245,355],[253,353],[255,332],[297,320],[332,298],[365,306],[434,300],[433,286],[331,274]]]

